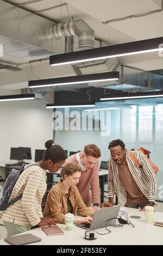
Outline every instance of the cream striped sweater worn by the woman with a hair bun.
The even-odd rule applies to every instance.
[[[46,170],[39,166],[24,170],[12,190],[10,200],[22,192],[23,196],[2,211],[2,220],[24,226],[37,225],[43,218],[41,202],[46,187]]]

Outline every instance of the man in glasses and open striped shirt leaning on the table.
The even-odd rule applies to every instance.
[[[109,149],[109,203],[103,203],[102,206],[113,206],[114,193],[122,206],[137,209],[140,207],[141,210],[146,205],[154,206],[158,183],[155,171],[146,156],[140,151],[133,151],[136,160],[141,163],[141,168],[138,168],[121,139],[111,141]]]

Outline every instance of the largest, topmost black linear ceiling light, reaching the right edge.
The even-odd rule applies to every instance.
[[[161,51],[163,37],[152,38],[141,41],[127,42],[124,44],[110,45],[90,50],[62,53],[50,56],[50,65],[64,65],[91,60],[108,59],[114,57],[128,56],[133,54]]]

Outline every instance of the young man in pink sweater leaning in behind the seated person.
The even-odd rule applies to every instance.
[[[82,196],[86,206],[91,206],[93,203],[94,209],[99,206],[100,190],[99,190],[99,174],[98,174],[98,159],[101,157],[101,151],[95,144],[89,144],[84,147],[84,150],[71,155],[65,161],[67,163],[78,163],[82,168],[82,174],[77,184],[79,193]],[[91,193],[90,193],[91,186]]]

